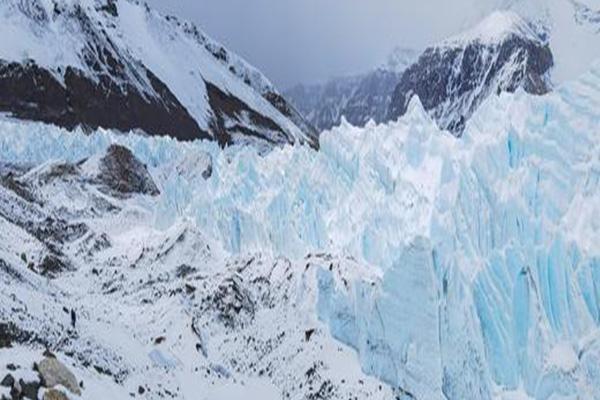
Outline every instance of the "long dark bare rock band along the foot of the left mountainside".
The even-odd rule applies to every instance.
[[[90,129],[142,129],[181,140],[209,138],[169,88],[149,70],[146,74],[157,96],[140,92],[133,84],[123,85],[112,75],[92,78],[72,67],[64,73],[63,86],[34,61],[0,60],[0,109],[18,118],[68,129],[81,125]]]

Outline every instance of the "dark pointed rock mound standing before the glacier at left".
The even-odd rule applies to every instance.
[[[129,194],[160,194],[148,169],[131,150],[119,145],[111,145],[100,160],[98,179],[112,191]]]

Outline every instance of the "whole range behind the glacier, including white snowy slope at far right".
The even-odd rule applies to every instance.
[[[420,56],[398,52],[397,67],[391,62],[364,75],[298,85],[286,96],[327,130],[342,116],[355,126],[396,120],[417,95],[442,129],[461,136],[489,96],[519,89],[543,95],[600,56],[600,9],[589,1],[498,0],[494,8]]]

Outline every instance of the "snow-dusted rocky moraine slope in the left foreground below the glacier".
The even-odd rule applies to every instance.
[[[393,397],[315,311],[317,272],[349,280],[355,261],[228,255],[185,219],[155,229],[157,186],[208,184],[211,157],[189,156],[159,181],[115,144],[0,167],[0,398]]]

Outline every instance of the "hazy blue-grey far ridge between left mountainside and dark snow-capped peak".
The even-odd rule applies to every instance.
[[[371,72],[323,84],[297,85],[284,94],[320,130],[340,125],[342,117],[356,126],[364,126],[371,119],[384,122],[393,90],[417,56],[415,50],[397,48]]]

